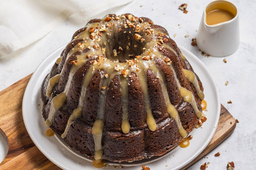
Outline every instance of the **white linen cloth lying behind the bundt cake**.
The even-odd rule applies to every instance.
[[[0,2],[0,57],[44,37],[76,15],[87,20],[132,0],[4,0]],[[85,22],[86,23],[86,22]]]

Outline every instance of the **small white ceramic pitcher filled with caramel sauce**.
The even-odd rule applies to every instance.
[[[215,9],[230,11],[235,17],[232,20],[208,25],[206,14]],[[224,57],[234,53],[239,47],[239,17],[236,6],[225,0],[216,0],[204,8],[204,13],[196,36],[198,48],[214,57]]]

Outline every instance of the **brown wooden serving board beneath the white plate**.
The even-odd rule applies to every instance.
[[[9,151],[6,158],[0,164],[1,170],[61,169],[38,150],[30,139],[23,122],[22,99],[31,76],[32,74],[0,92],[0,128],[6,133],[9,140]],[[218,127],[211,142],[197,158],[181,170],[185,170],[218,146],[233,132],[235,127],[236,120],[221,105]]]

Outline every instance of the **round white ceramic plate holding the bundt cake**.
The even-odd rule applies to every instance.
[[[47,127],[42,116],[42,102],[40,98],[40,88],[44,77],[49,73],[55,60],[60,56],[65,46],[59,48],[49,57],[47,57],[35,70],[23,97],[22,112],[23,120],[29,136],[39,150],[54,164],[65,170],[84,170],[97,169],[92,166],[92,159],[87,158],[74,150],[71,150],[62,142],[58,135],[52,137],[45,136]],[[193,139],[187,148],[175,147],[169,153],[163,156],[144,159],[142,161],[121,163],[125,170],[140,170],[142,165],[150,167],[152,170],[157,168],[161,170],[177,170],[195,159],[212,139],[218,125],[220,116],[220,100],[218,90],[209,71],[194,54],[183,47],[179,47],[183,55],[188,59],[195,72],[200,77],[204,85],[205,100],[208,103],[207,121],[202,128],[192,131]],[[39,104],[39,105],[38,105]],[[114,165],[119,163],[107,162],[110,166],[106,169],[113,169]],[[166,166],[167,165],[167,166]]]

